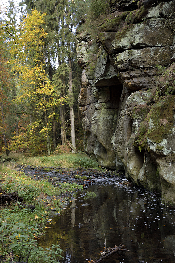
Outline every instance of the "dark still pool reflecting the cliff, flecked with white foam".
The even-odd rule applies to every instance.
[[[84,200],[80,193],[61,216],[52,218],[40,245],[60,244],[65,257],[60,262],[84,263],[100,257],[105,233],[106,247],[122,243],[130,252],[103,262],[175,263],[175,211],[162,205],[160,196],[119,182],[98,187],[85,190],[97,197]],[[79,228],[79,223],[84,226]]]

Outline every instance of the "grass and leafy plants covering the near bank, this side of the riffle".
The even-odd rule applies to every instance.
[[[44,233],[43,227],[51,215],[52,207],[60,213],[63,196],[69,199],[69,193],[72,194],[77,187],[83,187],[69,183],[60,183],[59,187],[53,187],[46,180],[32,180],[17,168],[12,168],[15,168],[14,161],[0,166],[1,188],[6,193],[17,192],[23,202],[0,204],[0,254],[13,262],[58,262],[59,257],[62,257],[59,245],[42,248],[38,247],[36,241]],[[47,196],[52,198],[46,202]],[[6,207],[2,208],[5,205]],[[28,209],[28,205],[34,205],[35,209]]]

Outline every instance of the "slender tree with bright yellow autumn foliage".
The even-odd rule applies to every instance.
[[[47,140],[48,155],[52,154],[49,131],[52,129],[53,107],[59,106],[66,98],[58,98],[57,90],[46,73],[46,58],[44,56],[47,33],[42,28],[46,14],[34,9],[31,15],[23,19],[18,36],[17,49],[14,44],[11,49],[14,66],[12,71],[18,76],[19,95],[15,103],[23,106],[26,114],[34,117],[32,127],[41,127]],[[28,127],[30,129],[30,125]]]

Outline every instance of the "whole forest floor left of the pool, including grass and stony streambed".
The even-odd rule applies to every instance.
[[[0,255],[3,257],[0,261],[6,261],[6,256],[11,257],[10,251],[13,251],[11,259],[15,261],[19,255],[25,255],[21,257],[23,261],[29,254],[32,257],[32,253],[43,253],[43,261],[36,258],[32,262],[52,262],[46,255],[52,255],[53,250],[61,253],[59,247],[50,248],[49,254],[35,246],[37,238],[44,234],[46,223],[53,215],[61,215],[77,192],[84,191],[97,179],[120,175],[99,167],[85,153],[72,154],[67,150],[52,156],[26,157],[11,153],[1,157]],[[30,257],[24,262],[30,263]]]

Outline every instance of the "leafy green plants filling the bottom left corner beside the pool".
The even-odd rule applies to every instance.
[[[24,209],[25,210],[25,209]],[[18,206],[3,209],[0,213],[0,253],[10,261],[26,261],[28,263],[56,262],[61,256],[60,245],[42,248],[37,245],[40,228],[37,224],[28,225],[23,222],[23,213]]]

